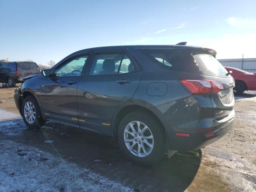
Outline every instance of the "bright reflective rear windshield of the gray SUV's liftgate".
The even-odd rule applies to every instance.
[[[200,66],[203,74],[210,76],[228,77],[227,70],[218,60],[210,54],[195,54],[193,55],[196,63]]]

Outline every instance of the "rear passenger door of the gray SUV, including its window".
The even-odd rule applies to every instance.
[[[123,51],[96,51],[90,71],[78,84],[78,120],[81,128],[110,134],[116,109],[130,100],[144,74]]]

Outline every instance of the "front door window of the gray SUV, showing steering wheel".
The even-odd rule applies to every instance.
[[[72,59],[66,64],[60,66],[54,71],[54,76],[57,77],[71,77],[71,76],[81,76],[82,69],[86,63],[88,55],[79,56]]]

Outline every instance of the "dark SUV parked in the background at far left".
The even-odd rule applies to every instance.
[[[32,74],[40,74],[40,68],[35,62],[2,62],[0,63],[0,83],[14,87],[23,82],[22,78]]]

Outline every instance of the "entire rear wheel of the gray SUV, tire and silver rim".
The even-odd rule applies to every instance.
[[[141,135],[139,136],[138,124],[136,121],[140,122],[141,131],[143,130],[143,128],[145,128],[145,125],[148,127],[149,130],[146,130],[143,135],[142,132],[140,132]],[[134,133],[137,132],[137,134],[134,134],[134,136],[137,137],[134,137],[127,133],[128,129],[128,131],[132,131],[132,127],[129,126],[129,124],[134,126]],[[152,134],[153,139],[143,140],[143,137],[151,137],[150,134]],[[133,141],[125,142],[125,138],[131,139]],[[122,118],[118,126],[118,142],[120,148],[122,148],[124,154],[128,157],[128,159],[136,164],[155,164],[164,156],[164,153],[166,152],[165,137],[162,129],[160,128],[160,125],[158,125],[158,123],[156,122],[156,120],[154,120],[154,118],[152,118],[152,116],[146,113],[142,113],[140,111],[130,112],[129,114],[124,116],[124,118]],[[147,145],[146,142],[151,144],[151,146],[153,147],[150,148],[150,145]],[[128,150],[128,147],[132,145],[134,145],[132,150]],[[139,145],[140,153],[138,153]],[[144,148],[142,148],[142,145],[144,146]],[[146,153],[144,152],[144,150],[146,151]]]

